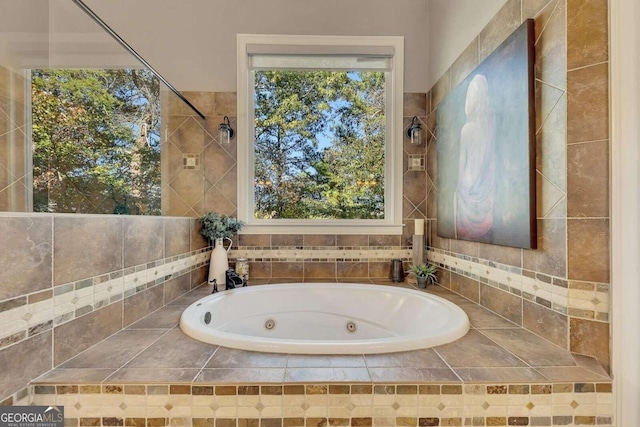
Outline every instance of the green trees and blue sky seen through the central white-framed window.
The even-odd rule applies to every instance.
[[[255,71],[255,217],[384,218],[385,73]]]

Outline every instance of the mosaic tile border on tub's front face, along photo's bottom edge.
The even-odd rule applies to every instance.
[[[611,383],[32,386],[67,426],[613,424]]]

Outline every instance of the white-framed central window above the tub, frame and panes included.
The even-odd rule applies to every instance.
[[[247,232],[401,233],[402,58],[400,37],[238,36]]]

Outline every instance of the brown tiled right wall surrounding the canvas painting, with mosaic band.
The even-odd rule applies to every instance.
[[[609,365],[606,0],[509,0],[429,92],[428,257],[443,284]],[[437,236],[438,103],[526,18],[536,35],[538,249]]]

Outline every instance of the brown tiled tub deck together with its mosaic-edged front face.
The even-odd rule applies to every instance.
[[[468,313],[467,336],[365,356],[192,340],[179,316],[209,291],[190,292],[37,379],[31,403],[63,405],[69,426],[612,425],[610,379],[594,359],[441,287],[428,292]]]

